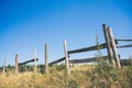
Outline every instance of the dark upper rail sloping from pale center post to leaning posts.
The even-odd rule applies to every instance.
[[[100,48],[98,48],[98,47],[100,47]],[[74,51],[68,51],[68,54],[82,53],[82,52],[88,52],[88,51],[97,51],[97,50],[102,50],[102,48],[106,48],[106,47],[107,47],[106,43],[102,43],[100,45],[95,45],[95,46],[74,50]]]

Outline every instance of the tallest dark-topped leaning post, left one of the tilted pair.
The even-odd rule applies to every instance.
[[[112,53],[111,53],[111,48],[110,48],[110,40],[109,40],[109,35],[108,35],[108,31],[107,31],[106,24],[102,24],[102,28],[103,28],[103,34],[105,34],[105,40],[106,40],[106,44],[107,44],[109,62],[114,66],[114,59],[112,57]]]

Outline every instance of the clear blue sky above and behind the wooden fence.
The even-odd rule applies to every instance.
[[[48,44],[50,62],[64,56],[63,41],[75,50],[103,43],[102,23],[111,26],[117,38],[132,38],[131,0],[0,0],[0,66],[33,58],[37,52],[44,64],[44,44]],[[123,43],[122,43],[123,44]],[[128,57],[132,48],[119,50]],[[72,55],[90,57],[96,53]],[[102,51],[102,54],[107,53]]]

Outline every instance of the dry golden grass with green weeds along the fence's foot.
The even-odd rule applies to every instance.
[[[0,75],[0,88],[132,88],[131,81],[132,66],[114,70],[107,63],[73,68],[70,76],[55,67],[51,74],[25,72]]]

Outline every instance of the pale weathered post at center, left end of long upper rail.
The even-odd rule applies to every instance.
[[[68,58],[68,53],[67,53],[66,40],[64,40],[64,52],[65,52],[66,74],[70,75],[69,58]]]

